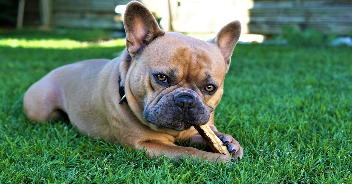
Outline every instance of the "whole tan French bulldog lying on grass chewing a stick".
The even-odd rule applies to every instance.
[[[61,66],[34,83],[24,96],[24,113],[34,121],[69,119],[90,137],[165,154],[226,162],[243,148],[218,132],[214,110],[241,25],[233,21],[209,42],[164,32],[151,12],[132,1],[124,15],[126,49],[112,60],[92,59]],[[208,123],[232,156],[177,146],[203,144],[193,125]]]

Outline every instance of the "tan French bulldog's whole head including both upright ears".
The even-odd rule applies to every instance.
[[[121,73],[134,114],[153,129],[182,131],[206,124],[222,96],[240,36],[239,21],[227,24],[205,42],[163,32],[149,10],[132,1],[124,25],[131,59]]]

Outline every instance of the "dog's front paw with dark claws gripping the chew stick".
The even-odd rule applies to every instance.
[[[239,161],[243,157],[243,148],[236,139],[228,134],[220,134],[218,137],[224,143],[224,146],[227,147],[228,152],[232,154],[233,158]]]

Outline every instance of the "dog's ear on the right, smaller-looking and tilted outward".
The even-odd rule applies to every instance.
[[[209,41],[209,43],[216,44],[221,50],[226,62],[226,71],[228,70],[231,62],[231,56],[235,45],[241,34],[241,23],[235,20],[228,23],[226,26],[216,34],[216,37]]]

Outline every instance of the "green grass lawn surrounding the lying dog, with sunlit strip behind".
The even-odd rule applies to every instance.
[[[118,56],[123,40],[94,42],[109,34],[1,32],[0,183],[352,183],[351,47],[237,45],[215,113],[244,147],[232,166],[150,159],[29,121],[30,85],[64,64]]]

